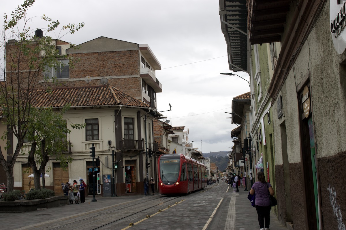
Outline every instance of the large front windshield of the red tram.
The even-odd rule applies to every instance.
[[[180,173],[180,159],[160,160],[160,177],[162,182],[175,182]]]

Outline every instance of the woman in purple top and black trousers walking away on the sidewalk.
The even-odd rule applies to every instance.
[[[256,193],[255,205],[260,230],[269,230],[270,209],[272,208],[269,201],[269,194],[273,196],[274,190],[272,185],[269,182],[266,182],[263,172],[258,172],[257,178],[258,181],[253,184],[250,194],[253,195]]]

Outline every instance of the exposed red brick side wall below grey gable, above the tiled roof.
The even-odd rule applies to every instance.
[[[76,53],[71,54],[75,61],[70,62],[70,79],[80,81],[62,81],[60,87],[99,86],[100,79],[85,82],[85,77],[121,76],[108,79],[108,84],[129,94],[132,97],[142,98],[142,79],[140,78],[138,50]],[[122,77],[122,76],[138,77]],[[41,87],[56,87],[54,83],[41,83]]]

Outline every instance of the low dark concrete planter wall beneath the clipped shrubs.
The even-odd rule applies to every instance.
[[[39,200],[0,201],[0,212],[29,212],[37,208],[53,208],[69,203],[68,196],[55,196]]]

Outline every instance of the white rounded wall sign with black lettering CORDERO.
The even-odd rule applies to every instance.
[[[339,3],[338,3],[339,2]],[[330,33],[334,48],[342,54],[346,48],[346,0],[329,1]]]

